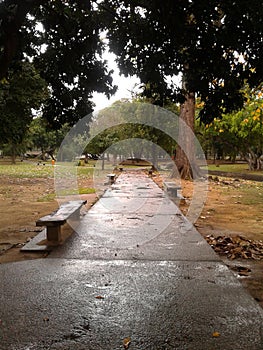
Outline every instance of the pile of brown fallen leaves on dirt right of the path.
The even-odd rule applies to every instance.
[[[228,259],[263,259],[262,241],[253,241],[239,235],[232,237],[208,235],[205,239],[216,253],[226,255]]]

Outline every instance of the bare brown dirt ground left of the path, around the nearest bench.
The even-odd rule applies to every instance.
[[[80,185],[88,187],[90,180]],[[46,253],[22,253],[20,248],[33,238],[41,227],[36,220],[58,208],[52,199],[54,180],[51,178],[9,178],[0,183],[0,263],[45,257]],[[82,195],[86,208],[96,200],[96,194]]]

